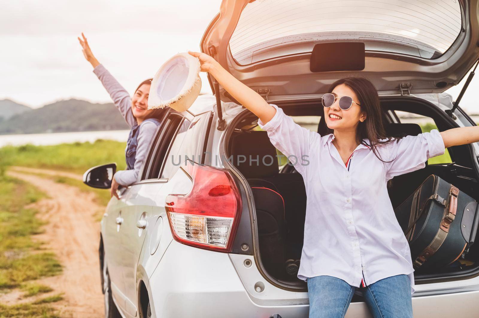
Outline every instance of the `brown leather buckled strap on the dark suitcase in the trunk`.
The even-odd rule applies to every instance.
[[[449,190],[449,202],[444,209],[445,210],[443,213],[444,217],[443,217],[443,220],[441,221],[441,226],[439,226],[439,230],[434,236],[431,244],[429,244],[413,262],[414,266],[420,267],[422,264],[424,264],[424,262],[427,261],[428,258],[430,258],[434,253],[436,253],[439,247],[441,247],[441,245],[444,243],[447,237],[447,233],[449,233],[451,223],[456,218],[458,195],[459,195],[459,189],[457,189],[455,186],[451,184],[451,188]]]

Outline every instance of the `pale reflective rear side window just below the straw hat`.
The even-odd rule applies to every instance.
[[[186,122],[182,124],[164,160],[160,178],[171,178],[187,159],[202,163],[205,136],[210,127],[211,114],[207,112],[199,115],[189,125],[186,125]]]

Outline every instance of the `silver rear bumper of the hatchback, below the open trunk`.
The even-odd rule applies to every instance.
[[[157,318],[308,318],[309,306],[255,303],[228,254],[172,241],[149,279]],[[476,317],[479,291],[413,297],[414,317]],[[276,302],[280,301],[276,299]],[[372,317],[364,302],[351,303],[345,318]]]

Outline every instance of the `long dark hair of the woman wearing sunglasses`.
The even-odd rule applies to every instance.
[[[391,143],[395,139],[386,135],[381,106],[379,103],[379,95],[377,95],[377,91],[373,83],[362,76],[345,77],[331,84],[330,88],[328,89],[328,93],[332,93],[332,90],[336,86],[342,84],[354,91],[358,97],[359,104],[361,104],[361,109],[365,111],[367,115],[365,121],[360,121],[358,124],[356,141],[365,145],[363,139],[368,139],[370,144],[367,146],[371,147],[376,157],[383,162],[391,162],[381,159],[381,156],[377,152],[378,146]],[[332,134],[334,130],[326,126],[326,131],[328,134]]]

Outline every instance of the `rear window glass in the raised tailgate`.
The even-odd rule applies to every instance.
[[[241,65],[334,41],[433,59],[455,42],[461,25],[458,0],[256,0],[242,11],[229,48]]]

